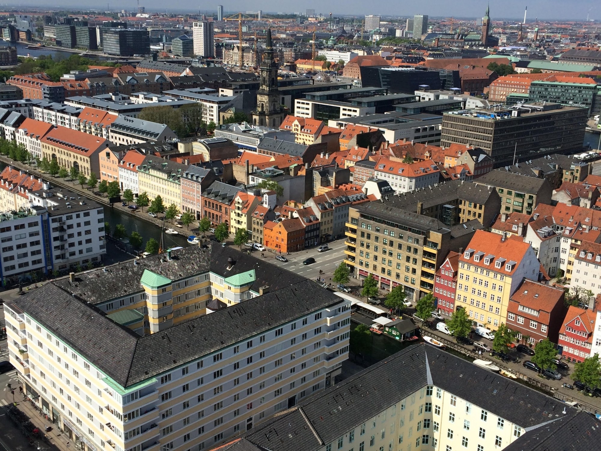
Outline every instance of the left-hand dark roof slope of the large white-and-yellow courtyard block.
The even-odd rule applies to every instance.
[[[52,283],[29,291],[15,304],[106,375],[115,381],[127,379],[138,334]]]

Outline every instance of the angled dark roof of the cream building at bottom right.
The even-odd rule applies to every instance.
[[[326,444],[334,442],[365,420],[425,387],[429,377],[432,377],[432,384],[436,387],[524,429],[564,419],[564,408],[567,416],[576,413],[575,408],[558,399],[421,343],[403,349],[346,381],[302,401],[244,435],[242,440],[270,451],[323,449]],[[567,437],[572,437],[570,431],[566,433]],[[520,441],[528,435],[528,432],[523,434]],[[232,443],[232,447],[226,449],[237,450],[233,447],[237,443]],[[248,444],[240,446],[245,446],[240,448],[243,450],[255,450]],[[566,448],[540,450],[563,449]],[[522,448],[511,449],[518,450]],[[535,448],[523,450],[538,451]]]

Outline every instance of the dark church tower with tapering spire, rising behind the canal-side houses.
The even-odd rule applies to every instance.
[[[267,28],[267,43],[261,64],[257,109],[252,112],[252,124],[278,128],[286,116],[278,90],[278,65],[273,60],[271,29]]]

